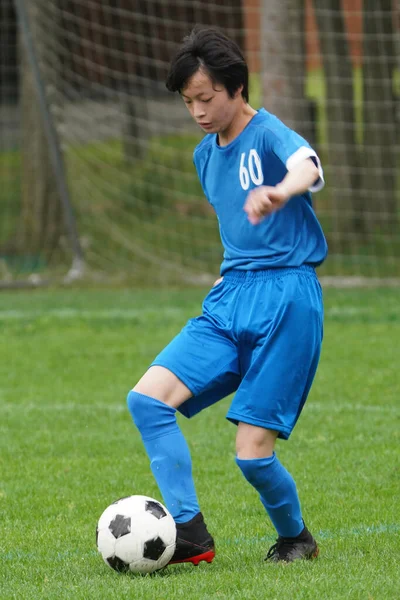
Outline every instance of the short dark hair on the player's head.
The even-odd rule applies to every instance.
[[[216,27],[197,26],[183,39],[171,61],[167,89],[181,93],[199,69],[204,69],[213,83],[224,85],[231,98],[243,86],[242,96],[249,101],[249,70],[243,53]]]

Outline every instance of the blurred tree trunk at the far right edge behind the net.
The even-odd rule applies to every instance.
[[[397,152],[394,72],[394,15],[391,0],[364,0],[363,225],[392,230],[397,216]]]

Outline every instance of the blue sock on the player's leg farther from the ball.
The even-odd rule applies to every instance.
[[[275,453],[267,458],[236,458],[236,463],[260,494],[278,535],[298,536],[304,529],[304,523],[296,484]]]

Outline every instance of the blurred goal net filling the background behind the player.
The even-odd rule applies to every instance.
[[[164,83],[195,24],[239,43],[250,103],[319,153],[321,275],[400,277],[394,4],[3,0],[0,282],[82,274],[82,261],[106,280],[218,276],[218,224],[192,163],[202,134]]]

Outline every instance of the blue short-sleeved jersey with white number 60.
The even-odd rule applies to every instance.
[[[293,196],[277,212],[252,225],[243,207],[249,191],[275,186],[296,164],[312,158],[320,179],[310,191]],[[227,146],[207,135],[194,151],[203,191],[219,221],[224,259],[221,275],[231,269],[260,270],[320,265],[327,244],[312,207],[311,193],[324,185],[320,161],[300,135],[261,109]]]

